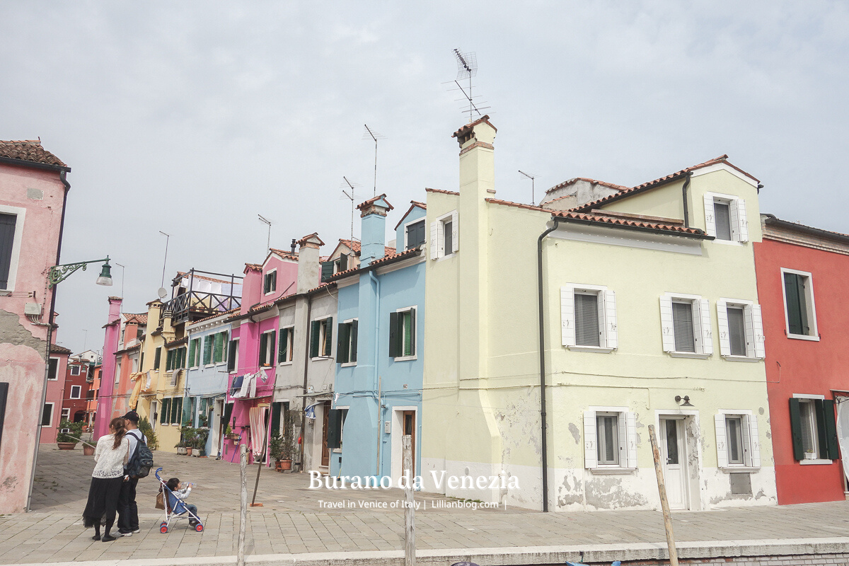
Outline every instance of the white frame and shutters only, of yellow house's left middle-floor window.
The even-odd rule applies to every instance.
[[[575,294],[599,296],[599,345],[577,345],[575,336]],[[560,287],[560,342],[569,350],[609,354],[619,347],[616,322],[616,292],[604,285],[566,283]]]

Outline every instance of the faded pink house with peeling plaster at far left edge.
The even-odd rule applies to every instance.
[[[0,141],[0,514],[29,507],[38,437],[55,433],[53,415],[41,426],[55,304],[46,276],[59,264],[68,171],[39,141]]]

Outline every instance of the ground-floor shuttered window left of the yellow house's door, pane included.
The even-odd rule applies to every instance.
[[[637,417],[627,407],[584,411],[584,465],[599,470],[637,468]]]

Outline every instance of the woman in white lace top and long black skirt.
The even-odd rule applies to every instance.
[[[97,462],[92,472],[92,485],[88,488],[86,510],[82,512],[83,524],[94,527],[94,541],[115,541],[110,535],[115,523],[115,511],[121,494],[121,482],[124,481],[124,466],[130,454],[130,441],[126,438],[127,429],[124,419],[113,418],[109,425],[110,433],[101,436],[94,450]],[[104,525],[104,535],[100,536],[100,525]]]

